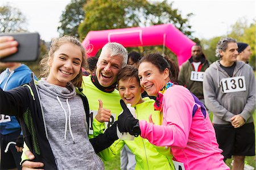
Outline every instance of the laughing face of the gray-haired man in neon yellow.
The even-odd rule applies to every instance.
[[[110,52],[106,50],[101,53],[97,62],[96,76],[101,86],[108,87],[117,81],[117,74],[122,68],[123,57],[110,56]]]

